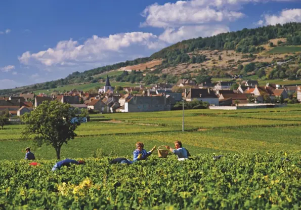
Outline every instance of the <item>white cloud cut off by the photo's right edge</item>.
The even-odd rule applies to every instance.
[[[289,22],[301,22],[301,9],[282,10],[279,15],[265,15],[265,25],[284,24]]]

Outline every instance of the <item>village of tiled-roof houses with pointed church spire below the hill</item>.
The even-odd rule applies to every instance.
[[[180,79],[175,86],[178,92],[173,92],[174,85],[158,83],[151,88],[142,85],[131,88],[124,87],[123,93],[114,91],[110,85],[109,77],[106,84],[99,89],[98,93],[85,93],[79,90],[72,90],[64,94],[52,93],[51,95],[33,93],[20,94],[0,98],[0,112],[7,111],[10,116],[20,116],[32,111],[43,101],[57,100],[62,103],[69,103],[79,109],[88,109],[90,112],[148,112],[168,111],[180,101],[198,100],[208,102],[210,106],[233,106],[235,104],[264,103],[266,96],[276,101],[280,98],[286,99],[289,94],[297,92],[297,99],[301,101],[301,86],[280,87],[279,85],[267,83],[266,86],[259,86],[256,80],[246,80],[239,84],[237,90],[231,90],[234,81],[219,81],[217,84],[201,83],[197,85],[195,80]],[[182,87],[182,89],[181,89]]]

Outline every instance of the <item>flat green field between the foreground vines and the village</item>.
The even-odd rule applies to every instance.
[[[77,138],[63,145],[62,158],[88,158],[96,153],[131,158],[137,141],[143,141],[150,149],[154,145],[172,145],[176,139],[193,154],[298,151],[301,141],[294,134],[301,132],[300,125],[301,105],[255,110],[186,110],[184,133],[182,111],[98,114],[80,125]],[[52,147],[37,147],[31,137],[22,136],[23,127],[6,125],[0,130],[3,148],[0,159],[21,159],[27,146],[38,158],[56,157]]]

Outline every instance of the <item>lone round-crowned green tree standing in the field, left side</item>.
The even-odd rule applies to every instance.
[[[26,126],[23,136],[33,135],[34,142],[41,146],[52,145],[60,159],[61,147],[74,139],[75,129],[80,125],[75,117],[87,116],[87,110],[73,108],[70,104],[58,101],[44,101],[35,110],[24,114],[21,119]],[[78,118],[77,118],[78,119]]]

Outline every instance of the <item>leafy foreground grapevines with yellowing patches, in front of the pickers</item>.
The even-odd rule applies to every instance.
[[[299,209],[300,152],[175,156],[132,165],[88,158],[55,173],[55,160],[1,161],[2,209]],[[285,160],[289,157],[289,160]],[[284,158],[284,159],[281,159]]]

